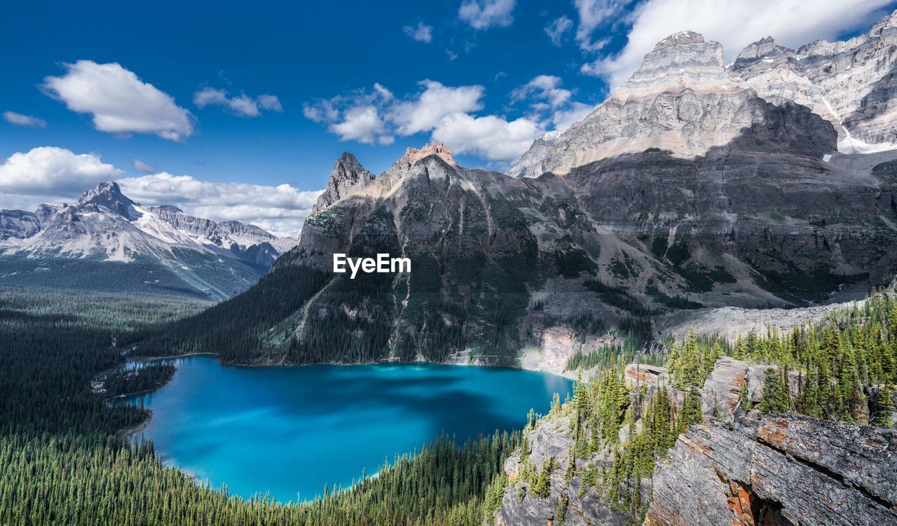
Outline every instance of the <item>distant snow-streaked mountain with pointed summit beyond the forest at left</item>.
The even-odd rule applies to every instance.
[[[0,283],[223,299],[293,245],[253,225],[145,207],[101,183],[73,205],[0,211]]]

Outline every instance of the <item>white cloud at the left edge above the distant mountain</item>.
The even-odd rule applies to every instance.
[[[0,190],[18,195],[80,194],[100,181],[121,177],[122,170],[96,153],[75,154],[52,146],[13,153],[0,165]]]

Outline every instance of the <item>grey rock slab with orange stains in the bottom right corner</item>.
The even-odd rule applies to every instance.
[[[775,415],[693,426],[654,472],[647,526],[897,523],[893,431]]]

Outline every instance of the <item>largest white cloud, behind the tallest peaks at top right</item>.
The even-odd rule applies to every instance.
[[[589,4],[578,0],[580,3]],[[780,45],[797,48],[816,39],[837,39],[845,31],[865,27],[883,15],[881,9],[887,4],[887,0],[647,0],[631,13],[631,29],[623,50],[583,65],[581,71],[604,77],[612,88],[617,87],[638,69],[642,58],[658,41],[678,30],[698,31],[707,39],[719,41],[727,61],[765,36],[773,37]],[[580,16],[581,13],[580,9]],[[588,27],[580,20],[580,30],[588,32]]]

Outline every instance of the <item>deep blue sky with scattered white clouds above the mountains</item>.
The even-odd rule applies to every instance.
[[[0,207],[117,178],[144,202],[293,235],[343,151],[379,173],[406,147],[443,139],[466,166],[505,168],[672,32],[699,30],[732,59],[767,34],[797,47],[893,9],[832,4],[7,4]],[[265,197],[278,186],[278,200]]]

